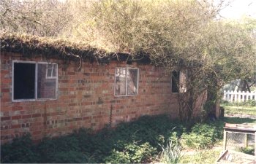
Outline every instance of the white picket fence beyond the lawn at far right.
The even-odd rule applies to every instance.
[[[256,100],[256,92],[241,92],[241,91],[233,91],[233,90],[224,90],[223,95],[224,101],[229,102],[244,102],[248,100]]]

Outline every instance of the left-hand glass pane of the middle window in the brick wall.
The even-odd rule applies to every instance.
[[[116,68],[115,95],[126,95],[127,72],[124,68]]]

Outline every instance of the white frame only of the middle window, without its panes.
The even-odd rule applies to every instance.
[[[116,95],[116,71],[117,71],[117,69],[125,69],[126,70],[126,86],[125,86],[125,95]],[[130,94],[128,94],[128,77],[127,77],[127,71],[129,70],[129,69],[135,69],[135,70],[137,70],[138,71],[138,77],[137,77],[137,94],[135,94],[135,95],[138,95],[139,94],[139,77],[140,77],[140,69],[138,69],[138,68],[132,68],[132,67],[116,67],[116,71],[115,71],[115,81],[114,81],[114,83],[115,83],[115,87],[114,87],[114,96],[115,97],[124,97],[124,96],[133,96],[133,95],[130,95]]]

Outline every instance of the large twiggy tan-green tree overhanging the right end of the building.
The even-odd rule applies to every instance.
[[[200,95],[206,113],[225,82],[246,77],[255,63],[255,39],[244,24],[217,20],[208,1],[111,1],[92,4],[80,39],[110,51],[149,54],[169,72],[187,70],[186,92],[178,94],[181,120],[189,121]],[[92,35],[87,31],[92,31]]]

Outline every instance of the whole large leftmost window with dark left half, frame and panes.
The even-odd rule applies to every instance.
[[[58,65],[56,63],[13,61],[12,101],[56,99]]]

